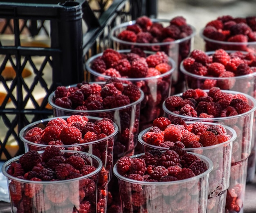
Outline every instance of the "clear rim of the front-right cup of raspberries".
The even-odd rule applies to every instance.
[[[162,152],[164,152],[165,150],[162,150]],[[144,152],[145,153],[145,152]],[[144,153],[140,153],[140,154],[137,154],[137,155],[132,155],[130,156],[131,158],[134,158],[134,157],[138,157],[140,155],[144,155]],[[183,180],[175,180],[175,181],[169,181],[169,182],[146,182],[146,181],[138,181],[138,180],[133,180],[133,179],[129,179],[127,177],[124,177],[122,175],[120,175],[118,172],[117,172],[117,163],[115,163],[115,165],[113,166],[113,173],[114,175],[121,179],[121,180],[124,180],[126,182],[129,182],[131,184],[143,184],[143,185],[174,185],[174,184],[182,184],[182,183],[186,183],[186,182],[191,182],[191,181],[194,181],[194,180],[197,180],[197,179],[200,179],[206,175],[209,175],[209,173],[213,170],[213,162],[211,161],[211,159],[209,159],[208,157],[204,156],[204,155],[200,155],[200,154],[197,154],[197,153],[193,153],[193,152],[187,152],[187,153],[191,153],[193,155],[196,155],[200,160],[203,160],[206,164],[208,164],[208,169],[199,174],[199,175],[196,175],[194,177],[190,177],[190,178],[187,178],[187,179],[183,179]]]

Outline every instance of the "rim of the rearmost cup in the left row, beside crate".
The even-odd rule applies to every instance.
[[[154,22],[168,22],[170,23],[170,20],[168,19],[157,19],[157,18],[150,18],[150,20],[154,23]],[[136,20],[131,20],[131,21],[128,21],[128,22],[124,22],[120,25],[117,25],[115,27],[113,27],[110,31],[110,39],[112,39],[113,41],[115,42],[118,42],[118,43],[122,43],[122,44],[125,44],[125,45],[136,45],[136,46],[141,46],[141,47],[150,47],[152,45],[171,45],[171,44],[179,44],[179,43],[182,43],[186,40],[189,40],[191,38],[193,38],[196,34],[196,29],[195,27],[193,27],[192,25],[189,25],[191,27],[191,29],[193,30],[192,34],[190,34],[189,36],[185,37],[185,38],[181,38],[181,39],[177,39],[177,40],[174,40],[174,41],[168,41],[168,42],[158,42],[158,43],[136,43],[136,42],[129,42],[129,41],[123,41],[119,38],[117,38],[114,34],[115,34],[115,31],[121,27],[127,27],[128,25],[134,25],[136,22]]]

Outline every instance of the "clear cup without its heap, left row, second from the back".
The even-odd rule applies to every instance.
[[[119,53],[127,54],[130,50],[120,50]],[[152,52],[146,52],[152,54]],[[90,73],[91,81],[107,81],[110,76],[106,76],[91,69],[91,64],[94,59],[101,56],[97,54],[89,58],[86,62],[86,70]],[[169,58],[171,70],[164,74],[146,77],[146,78],[117,78],[124,83],[133,83],[137,85],[144,92],[144,101],[141,102],[140,115],[139,115],[139,129],[144,129],[150,126],[158,116],[164,114],[162,110],[163,101],[171,94],[171,79],[175,70],[175,62]]]

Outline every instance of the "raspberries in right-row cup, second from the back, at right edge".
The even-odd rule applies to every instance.
[[[256,55],[240,51],[227,52],[224,49],[217,49],[210,54],[195,49],[188,58],[184,59],[182,66],[191,74],[214,78],[203,78],[201,80],[200,78],[186,76],[186,82],[190,88],[210,89],[211,87],[220,87],[222,90],[231,90],[236,84],[234,77],[256,72]],[[242,80],[238,79],[237,81],[239,84]],[[238,86],[236,85],[236,87]],[[239,87],[242,91],[245,91],[243,87],[248,87],[247,82]]]

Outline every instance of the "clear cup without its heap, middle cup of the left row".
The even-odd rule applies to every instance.
[[[99,85],[105,85],[105,83],[106,82],[97,82]],[[140,90],[140,94],[140,98],[133,103],[118,108],[104,110],[73,110],[60,107],[54,103],[54,92],[49,95],[48,103],[52,106],[53,114],[56,117],[81,114],[99,118],[107,117],[114,121],[118,126],[118,133],[114,143],[114,158],[119,158],[124,155],[134,155],[139,133],[140,105],[144,100],[144,93],[142,90]]]

